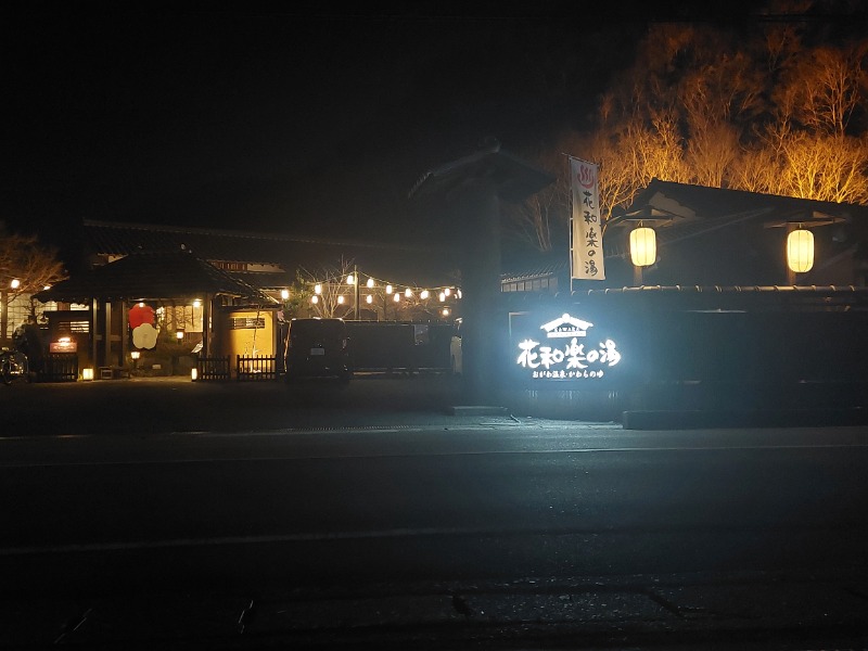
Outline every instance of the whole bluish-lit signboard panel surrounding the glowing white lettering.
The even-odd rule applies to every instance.
[[[611,319],[610,319],[611,320]],[[602,387],[625,375],[628,355],[620,329],[597,310],[510,314],[510,368],[527,385]]]

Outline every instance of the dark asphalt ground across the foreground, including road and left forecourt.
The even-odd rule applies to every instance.
[[[868,643],[864,427],[455,417],[444,378],[10,388],[41,409],[0,437],[4,648]]]

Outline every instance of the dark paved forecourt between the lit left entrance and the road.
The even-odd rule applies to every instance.
[[[174,376],[0,388],[3,436],[433,424],[465,405],[460,381],[445,374],[367,374],[348,386]]]

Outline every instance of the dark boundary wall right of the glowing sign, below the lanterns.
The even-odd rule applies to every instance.
[[[868,291],[599,292],[557,309],[616,332],[623,360],[600,385],[638,409],[868,408]]]

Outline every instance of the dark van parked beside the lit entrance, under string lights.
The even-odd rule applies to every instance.
[[[349,337],[343,319],[293,319],[286,336],[286,380],[353,375]]]

